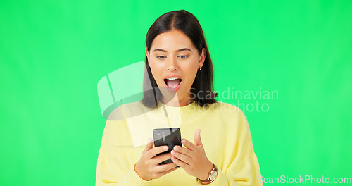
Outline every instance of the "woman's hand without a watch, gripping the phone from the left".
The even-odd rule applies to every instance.
[[[167,150],[168,146],[153,148],[153,141],[149,138],[146,149],[142,152],[141,159],[134,165],[134,171],[136,171],[140,178],[146,181],[159,178],[171,171],[175,171],[178,167],[173,162],[159,165],[159,163],[171,159],[171,154],[167,153],[159,156],[156,156],[156,154]]]

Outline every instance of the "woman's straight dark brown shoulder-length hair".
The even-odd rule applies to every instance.
[[[146,34],[146,47],[148,52],[150,52],[153,39],[163,32],[170,30],[180,30],[187,35],[198,50],[199,55],[201,55],[203,48],[206,49],[206,58],[201,70],[197,71],[196,78],[191,86],[191,94],[194,95],[194,101],[199,106],[215,103],[215,97],[218,96],[218,93],[213,92],[213,63],[201,25],[192,13],[184,10],[170,11],[156,19]],[[163,97],[151,73],[147,57],[143,80],[143,94],[142,104],[149,108],[155,108],[158,101]]]

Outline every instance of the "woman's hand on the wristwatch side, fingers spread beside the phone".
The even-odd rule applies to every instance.
[[[181,140],[184,147],[175,146],[171,151],[171,160],[189,175],[201,180],[208,178],[208,173],[213,169],[213,163],[206,157],[203,144],[201,143],[201,130],[194,133],[194,144],[186,139]]]

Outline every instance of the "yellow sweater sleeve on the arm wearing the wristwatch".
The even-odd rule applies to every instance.
[[[246,116],[242,111],[237,112],[237,139],[232,153],[230,166],[220,168],[218,177],[208,184],[209,186],[263,186],[259,182],[260,168],[256,154],[253,150],[251,133]]]

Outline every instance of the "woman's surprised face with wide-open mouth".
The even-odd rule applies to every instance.
[[[179,30],[158,35],[151,44],[150,53],[146,48],[151,73],[163,93],[164,104],[169,106],[189,104],[192,98],[189,90],[197,70],[203,66],[205,53],[203,49],[199,55],[191,39]]]

